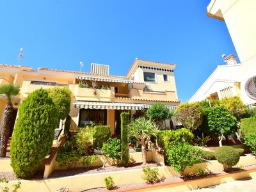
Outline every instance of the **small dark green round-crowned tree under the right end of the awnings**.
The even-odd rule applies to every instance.
[[[154,120],[159,128],[162,128],[163,120],[171,118],[172,113],[170,113],[170,109],[164,106],[164,104],[156,102],[147,110],[147,116]]]

